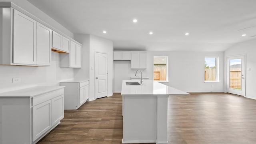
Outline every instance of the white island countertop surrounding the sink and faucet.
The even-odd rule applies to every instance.
[[[139,82],[140,80],[123,80],[121,95],[189,95],[186,92],[166,86],[153,80],[143,80],[142,85],[126,86],[125,82]]]

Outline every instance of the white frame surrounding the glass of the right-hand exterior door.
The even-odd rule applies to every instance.
[[[230,70],[230,62],[228,62],[228,58],[232,57],[244,57],[244,66],[241,64],[241,68],[244,67],[244,92],[240,96],[246,97],[246,54],[239,54],[239,55],[233,55],[233,56],[226,56],[226,92],[228,92],[228,88],[230,87],[230,74],[228,74],[228,71]],[[242,68],[243,69],[243,68]],[[229,71],[230,72],[230,71]],[[229,75],[229,76],[228,76]],[[242,80],[241,80],[242,84]],[[241,87],[242,88],[242,87]],[[229,92],[230,93],[230,92]],[[233,94],[233,93],[231,93]]]

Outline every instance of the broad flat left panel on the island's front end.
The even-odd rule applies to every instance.
[[[156,96],[123,96],[122,143],[156,142]]]

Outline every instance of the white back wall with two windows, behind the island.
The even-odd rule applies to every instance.
[[[224,52],[147,52],[147,69],[143,76],[153,79],[154,56],[168,56],[169,82],[162,82],[185,92],[224,92]],[[204,57],[219,56],[220,82],[204,82]],[[130,79],[130,61],[114,61],[114,92],[121,91],[122,80]]]

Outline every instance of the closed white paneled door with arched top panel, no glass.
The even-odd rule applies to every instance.
[[[95,98],[107,96],[108,54],[95,52]]]

